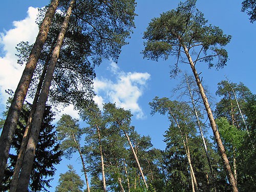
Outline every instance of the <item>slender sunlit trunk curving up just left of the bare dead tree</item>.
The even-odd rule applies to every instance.
[[[189,165],[189,169],[190,169],[190,173],[191,173],[191,178],[193,179],[192,182],[194,184],[194,190],[195,191],[199,191],[198,189],[198,185],[197,185],[197,179],[196,179],[196,176],[195,176],[195,173],[194,173],[194,169],[193,169],[193,166],[192,166],[192,163],[191,163],[191,159],[190,159],[190,152],[189,152],[189,147],[188,145],[186,144],[188,141],[187,141],[187,135],[185,134],[185,137],[186,137],[186,141],[184,140],[184,136],[183,136],[183,133],[181,131],[181,127],[180,127],[180,124],[177,120],[177,118],[175,117],[175,115],[172,113],[172,110],[170,108],[168,108],[169,110],[169,113],[170,115],[173,116],[173,118],[175,119],[175,122],[179,128],[179,131],[180,131],[180,135],[181,135],[181,138],[182,138],[182,142],[183,142],[183,145],[184,145],[184,148],[185,148],[185,152],[186,152],[186,156],[187,156],[187,161],[188,161],[188,165]],[[192,185],[193,186],[193,185]]]

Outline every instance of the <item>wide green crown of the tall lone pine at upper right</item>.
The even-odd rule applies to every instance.
[[[180,3],[176,10],[153,18],[143,38],[147,40],[142,52],[144,58],[158,60],[162,57],[166,60],[170,55],[175,55],[179,61],[182,54],[187,54],[187,49],[196,55],[195,64],[204,61],[209,68],[222,68],[228,58],[223,47],[228,44],[231,36],[225,35],[219,27],[207,25],[203,13],[196,9],[196,1],[187,0]]]

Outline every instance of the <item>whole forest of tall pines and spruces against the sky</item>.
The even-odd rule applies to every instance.
[[[23,67],[16,90],[5,90],[0,191],[256,190],[256,94],[229,74],[215,93],[205,83],[203,70],[221,71],[230,64],[233,37],[208,22],[196,0],[158,13],[142,34],[141,57],[154,65],[164,61],[168,71],[161,75],[176,81],[174,89],[169,82],[159,86],[169,94],[153,90],[147,103],[147,119],[157,116],[167,123],[161,127],[163,148],[134,126],[146,115],[131,95],[141,96],[145,82],[138,76],[146,81],[150,74],[130,73],[138,87],[121,87],[131,109],[122,99],[103,102],[99,96],[98,68],[110,61],[113,73],[119,70],[119,56],[136,32],[137,6],[135,0],[51,0],[38,9],[35,41],[16,45],[16,65]],[[246,22],[255,25],[256,2],[245,0],[241,7]],[[70,105],[79,118],[62,113],[55,120],[58,106]],[[59,172],[58,165],[67,172]]]

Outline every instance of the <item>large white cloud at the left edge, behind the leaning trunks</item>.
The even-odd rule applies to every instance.
[[[0,44],[4,53],[4,56],[0,57],[0,94],[3,104],[9,97],[5,90],[15,91],[25,67],[17,64],[15,47],[20,41],[29,41],[32,44],[38,33],[38,26],[35,24],[37,8],[29,7],[27,13],[25,19],[13,22],[13,29],[0,33]]]

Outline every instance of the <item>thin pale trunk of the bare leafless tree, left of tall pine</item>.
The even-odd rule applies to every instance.
[[[214,172],[212,171],[210,157],[209,157],[207,146],[206,146],[206,142],[205,142],[205,139],[204,139],[204,134],[203,134],[203,130],[202,130],[202,127],[201,127],[200,119],[199,119],[199,116],[198,116],[198,113],[197,113],[196,104],[194,102],[194,97],[193,97],[193,95],[191,93],[191,88],[190,88],[190,85],[189,85],[189,82],[188,82],[188,79],[187,79],[186,75],[185,75],[185,78],[186,78],[186,83],[187,83],[187,89],[189,91],[190,99],[191,99],[191,102],[192,102],[192,105],[193,105],[194,113],[195,113],[196,118],[197,118],[197,125],[198,125],[199,131],[200,131],[200,135],[201,135],[201,138],[202,138],[202,141],[203,141],[204,151],[205,151],[205,155],[206,155],[206,158],[207,158],[207,161],[208,161],[208,166],[209,166],[209,169],[210,169],[211,179],[212,179],[212,182],[214,184],[214,189],[215,189],[215,191],[217,191],[215,177],[214,177]]]

